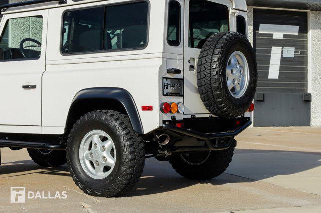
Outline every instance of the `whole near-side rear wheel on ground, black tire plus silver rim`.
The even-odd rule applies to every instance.
[[[144,142],[127,115],[93,111],[82,116],[71,130],[67,159],[81,190],[92,196],[115,197],[139,180],[145,163]]]

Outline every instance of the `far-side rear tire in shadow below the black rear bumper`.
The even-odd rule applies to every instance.
[[[208,180],[221,175],[232,161],[236,140],[223,151],[195,152],[173,156],[170,163],[181,176],[193,180]]]

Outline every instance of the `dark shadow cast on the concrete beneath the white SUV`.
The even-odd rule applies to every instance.
[[[194,181],[182,178],[172,169],[168,162],[147,159],[144,173],[136,187],[124,196],[143,196],[187,188],[196,184],[224,185],[228,183],[255,182],[277,175],[290,175],[321,166],[321,153],[296,151],[271,151],[237,149],[227,171],[208,181]],[[64,172],[61,172],[64,171]],[[238,175],[246,172],[245,178]],[[30,175],[35,173],[47,175],[70,176],[68,167],[42,168],[32,160],[3,163],[0,166],[0,178]]]

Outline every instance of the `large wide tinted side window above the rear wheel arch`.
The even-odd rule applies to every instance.
[[[148,3],[68,11],[63,17],[63,54],[139,49],[147,45]]]

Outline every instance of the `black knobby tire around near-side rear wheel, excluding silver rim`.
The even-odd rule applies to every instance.
[[[88,132],[99,129],[110,135],[115,146],[115,164],[103,179],[87,175],[80,162],[80,144]],[[136,133],[127,115],[111,110],[99,110],[83,115],[73,126],[67,142],[67,161],[76,185],[92,196],[115,197],[139,180],[145,163],[144,142]]]

